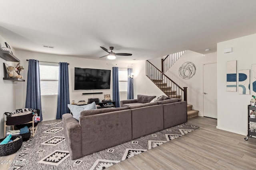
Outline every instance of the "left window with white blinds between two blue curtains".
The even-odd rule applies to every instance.
[[[59,64],[39,62],[41,96],[58,95]]]

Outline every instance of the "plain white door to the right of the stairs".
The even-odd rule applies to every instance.
[[[217,119],[217,64],[204,64],[204,116]]]

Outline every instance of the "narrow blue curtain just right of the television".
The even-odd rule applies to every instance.
[[[119,80],[118,80],[118,67],[112,67],[113,76],[113,100],[116,102],[116,107],[120,107],[119,98]]]

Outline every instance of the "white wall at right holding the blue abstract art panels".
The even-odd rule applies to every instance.
[[[232,53],[223,53],[223,49],[233,47]],[[218,128],[247,135],[247,105],[251,95],[226,91],[226,62],[237,61],[238,70],[252,69],[256,64],[255,57],[256,34],[224,41],[217,44],[217,95],[218,95]],[[250,72],[252,73],[252,71]],[[238,80],[238,76],[237,76]],[[252,75],[250,75],[252,83]],[[238,82],[237,82],[238,84]]]

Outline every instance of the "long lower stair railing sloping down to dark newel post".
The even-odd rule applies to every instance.
[[[187,87],[181,88],[156,66],[146,61],[146,76],[167,96],[187,101]],[[175,93],[175,94],[174,94]]]

